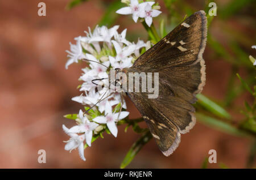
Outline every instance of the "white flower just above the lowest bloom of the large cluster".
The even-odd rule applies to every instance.
[[[86,143],[90,146],[92,142],[92,135],[93,135],[93,130],[98,126],[97,123],[95,122],[90,122],[86,116],[84,116],[84,113],[82,110],[79,111],[79,118],[81,119],[81,122],[77,126],[71,127],[68,132],[69,133],[85,133],[85,139]]]

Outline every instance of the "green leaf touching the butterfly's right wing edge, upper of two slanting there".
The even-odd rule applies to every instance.
[[[210,100],[208,97],[205,97],[202,94],[198,94],[196,96],[198,98],[198,104],[203,106],[205,109],[207,109],[210,113],[213,113],[221,118],[230,119],[231,116],[228,112],[226,112],[225,109],[223,109],[220,105],[216,104],[212,100]]]

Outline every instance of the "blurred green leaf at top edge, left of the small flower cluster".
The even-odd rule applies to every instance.
[[[107,27],[110,27],[118,18],[118,14],[115,11],[117,11],[121,7],[123,7],[123,4],[121,3],[121,1],[115,1],[115,2],[109,3],[107,10],[105,11],[105,14],[102,16],[98,24],[100,26],[106,25]]]

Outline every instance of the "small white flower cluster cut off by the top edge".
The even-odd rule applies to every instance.
[[[123,7],[117,11],[118,14],[133,14],[133,20],[137,23],[139,18],[144,18],[145,22],[147,23],[148,27],[152,24],[152,18],[158,16],[161,11],[160,6],[156,5],[155,2],[147,1],[139,3],[138,0],[131,0],[131,1],[123,1],[128,5],[128,7]],[[153,7],[152,7],[153,6]]]

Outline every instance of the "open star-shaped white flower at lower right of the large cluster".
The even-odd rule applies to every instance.
[[[118,120],[118,114],[119,113],[112,113],[112,107],[109,104],[109,102],[106,102],[106,108],[105,108],[105,116],[98,116],[93,119],[93,121],[106,124],[109,128],[109,131],[117,137],[117,125],[115,125],[115,122]],[[129,115],[129,112],[121,112],[119,114],[119,119],[123,119]]]

